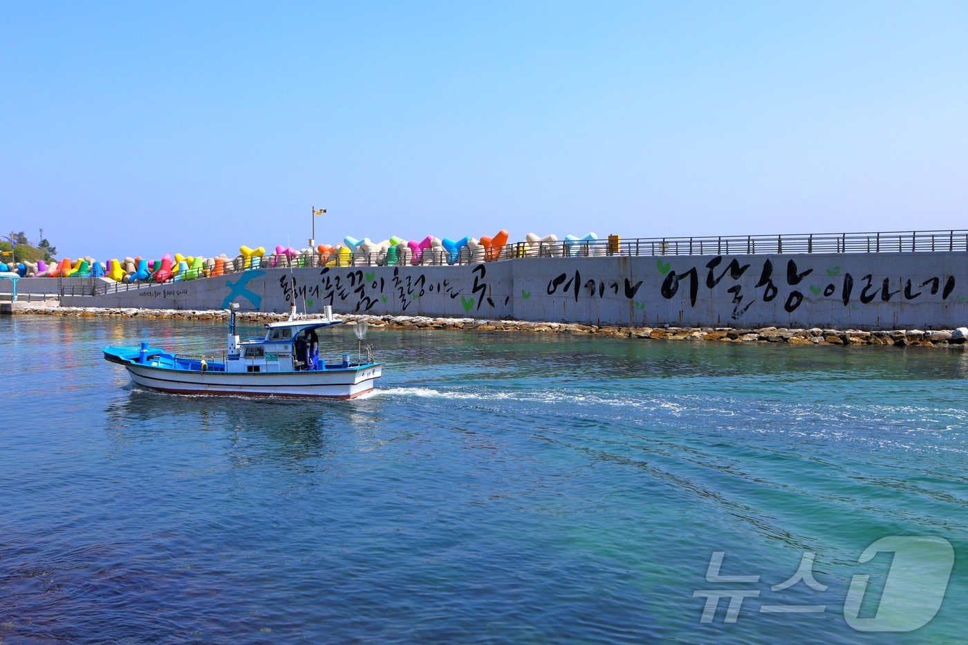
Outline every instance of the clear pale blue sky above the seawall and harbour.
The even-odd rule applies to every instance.
[[[0,0],[0,231],[968,228],[964,2]]]

